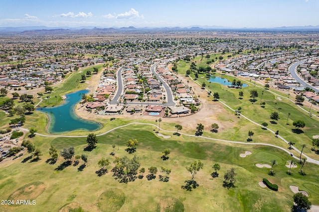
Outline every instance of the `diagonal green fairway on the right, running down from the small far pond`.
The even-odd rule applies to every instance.
[[[180,61],[177,67],[178,73],[183,73],[184,70],[187,70],[190,66],[190,63],[186,63],[184,61]],[[198,67],[198,66],[197,66]],[[234,79],[233,76],[229,75],[221,75],[220,73],[215,73],[216,76],[222,76],[227,78],[228,81],[232,81]],[[190,76],[194,78],[194,74],[191,73]],[[256,123],[268,123],[268,128],[277,131],[279,130],[279,135],[285,138],[287,141],[295,142],[295,146],[298,149],[301,149],[302,144],[306,144],[307,147],[304,149],[304,152],[313,157],[314,159],[319,160],[319,155],[315,153],[315,151],[311,150],[312,147],[312,139],[313,136],[319,135],[319,120],[316,117],[311,117],[309,114],[299,107],[295,105],[290,99],[282,97],[287,96],[287,94],[281,93],[279,90],[266,90],[264,88],[260,88],[258,86],[254,86],[251,83],[248,83],[248,87],[243,88],[225,88],[223,89],[223,85],[219,83],[209,83],[205,76],[205,74],[199,74],[198,79],[195,81],[198,82],[200,85],[205,82],[206,89],[214,92],[218,92],[220,95],[220,101],[224,102],[232,109],[236,110],[237,108],[241,107],[241,113],[248,117],[249,119],[255,121]],[[189,80],[191,80],[189,78]],[[238,78],[236,78],[238,80]],[[244,80],[241,80],[244,82]],[[249,78],[247,78],[247,81]],[[253,81],[251,81],[254,83]],[[199,85],[198,85],[199,86]],[[250,101],[250,91],[256,90],[258,92],[258,98],[256,98],[256,102],[253,103]],[[242,99],[239,99],[238,92],[243,91],[244,96]],[[274,94],[270,91],[273,91],[277,94]],[[263,92],[263,95],[262,95]],[[261,99],[262,96],[262,99]],[[259,104],[260,102],[264,101],[266,103],[265,107],[261,107]],[[279,120],[272,124],[272,120],[270,119],[270,115],[272,112],[279,113]],[[288,122],[288,113],[291,113],[289,116]],[[293,121],[296,120],[303,120],[306,123],[306,127],[302,129],[302,131],[297,132],[295,131],[295,127],[292,125]],[[286,124],[287,123],[287,124]],[[251,125],[250,125],[251,126]],[[262,135],[258,135],[257,133],[262,133]],[[264,131],[255,132],[255,136],[260,136],[261,141],[265,141],[264,138],[268,137],[264,135]],[[254,137],[255,137],[254,136]],[[242,138],[242,137],[241,137]],[[267,139],[266,139],[267,140]],[[287,145],[286,143],[282,143],[282,146]]]

